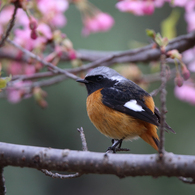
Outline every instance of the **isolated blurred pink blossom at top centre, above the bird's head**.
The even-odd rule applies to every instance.
[[[108,31],[113,26],[114,20],[109,14],[99,12],[94,17],[86,17],[83,23],[82,34],[87,36],[90,33]]]

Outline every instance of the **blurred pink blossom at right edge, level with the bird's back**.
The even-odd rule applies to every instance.
[[[175,96],[181,101],[195,105],[195,86],[193,82],[186,81],[182,87],[175,87]]]

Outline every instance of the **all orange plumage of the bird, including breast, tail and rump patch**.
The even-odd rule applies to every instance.
[[[135,139],[138,136],[158,149],[154,138],[158,138],[156,126],[105,106],[101,101],[101,89],[87,98],[87,113],[95,127],[113,139]],[[154,112],[152,97],[145,99],[146,106]]]

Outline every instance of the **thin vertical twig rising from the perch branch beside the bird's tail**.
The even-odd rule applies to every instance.
[[[160,88],[160,101],[161,101],[161,115],[160,115],[160,144],[159,144],[159,157],[162,159],[164,154],[164,130],[165,130],[165,114],[167,112],[166,109],[166,64],[165,64],[166,56],[164,53],[161,55],[161,88]]]

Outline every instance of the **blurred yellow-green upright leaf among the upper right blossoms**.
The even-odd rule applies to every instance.
[[[180,17],[180,12],[174,9],[171,14],[161,23],[161,34],[163,37],[173,39],[177,36],[176,25]]]

